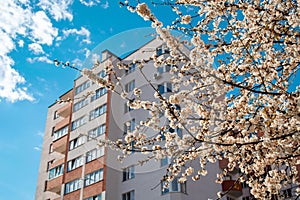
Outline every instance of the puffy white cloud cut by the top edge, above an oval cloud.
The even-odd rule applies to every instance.
[[[73,0],[40,0],[38,6],[49,12],[56,21],[62,19],[72,21],[73,15],[68,10],[72,3]]]

